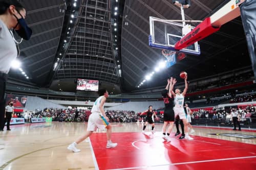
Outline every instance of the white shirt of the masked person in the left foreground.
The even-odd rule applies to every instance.
[[[8,74],[11,62],[17,57],[17,48],[12,35],[0,19],[0,72]]]

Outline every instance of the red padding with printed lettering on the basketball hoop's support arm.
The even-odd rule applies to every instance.
[[[203,22],[201,22],[195,29],[193,29],[190,33],[185,35],[175,44],[176,50],[181,50],[186,46],[194,44],[195,42],[207,37],[208,35],[215,33],[220,30],[219,28],[214,28],[211,26],[210,18],[205,18]]]

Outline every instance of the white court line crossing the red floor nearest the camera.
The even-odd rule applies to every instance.
[[[210,159],[210,160],[202,160],[202,161],[192,161],[192,162],[181,162],[181,163],[169,163],[162,165],[152,165],[152,166],[137,166],[137,167],[126,167],[126,168],[117,168],[117,169],[108,169],[108,170],[118,170],[118,169],[141,169],[148,167],[159,167],[159,166],[170,166],[170,165],[182,165],[182,164],[192,164],[192,163],[202,163],[202,162],[215,162],[215,161],[225,161],[225,160],[233,160],[233,159],[247,159],[247,158],[256,158],[256,156],[245,156],[245,157],[236,157],[236,158],[224,158],[224,159]]]

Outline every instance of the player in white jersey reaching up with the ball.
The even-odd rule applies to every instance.
[[[175,107],[174,107],[174,113],[175,113],[175,117],[177,117],[177,115],[179,115],[180,119],[182,119],[182,122],[184,124],[184,131],[185,131],[185,139],[193,139],[188,135],[188,131],[187,131],[187,119],[186,119],[186,113],[184,111],[183,105],[184,105],[184,96],[187,92],[187,76],[185,77],[185,88],[183,90],[182,93],[180,93],[180,89],[175,89],[175,93],[172,90],[172,95],[174,96],[174,103],[175,103]],[[172,84],[172,89],[174,87],[174,85],[176,84],[177,80],[173,79],[173,84]]]

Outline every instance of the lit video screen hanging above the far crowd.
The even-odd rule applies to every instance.
[[[98,91],[99,90],[99,81],[98,80],[77,79],[76,90]]]

